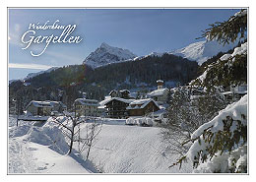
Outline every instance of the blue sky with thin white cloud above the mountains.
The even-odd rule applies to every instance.
[[[237,9],[9,9],[9,80],[52,66],[82,64],[102,43],[126,48],[138,56],[184,47],[209,24],[227,20]],[[77,25],[79,44],[53,44],[38,56],[22,48],[24,32],[32,23]],[[36,30],[36,35],[59,35],[61,30]]]

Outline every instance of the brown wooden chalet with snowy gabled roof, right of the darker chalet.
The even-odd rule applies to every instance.
[[[154,99],[147,98],[132,101],[126,109],[129,116],[144,116],[160,110],[160,106]]]

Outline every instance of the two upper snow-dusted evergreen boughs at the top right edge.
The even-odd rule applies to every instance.
[[[224,54],[217,62],[205,67],[205,72],[192,85],[213,89],[217,86],[247,84],[247,10],[241,10],[223,23],[210,25],[203,36],[208,40],[217,39],[220,43],[243,43],[234,48],[231,54]]]

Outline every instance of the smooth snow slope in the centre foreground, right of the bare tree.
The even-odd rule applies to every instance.
[[[104,173],[190,173],[191,163],[182,164],[180,170],[168,168],[179,156],[165,150],[160,132],[158,127],[103,124],[89,159]]]

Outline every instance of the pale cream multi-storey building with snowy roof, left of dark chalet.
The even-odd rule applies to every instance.
[[[77,98],[74,102],[76,114],[80,116],[98,116],[96,99]]]

